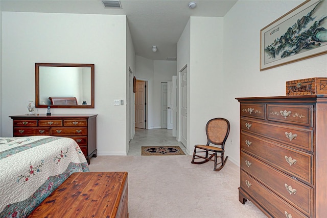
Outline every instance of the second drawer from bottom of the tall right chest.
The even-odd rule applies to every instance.
[[[265,186],[274,190],[291,205],[308,216],[312,216],[312,187],[305,185],[284,173],[266,165],[262,161],[241,152],[241,168]]]

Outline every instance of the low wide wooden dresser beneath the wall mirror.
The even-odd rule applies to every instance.
[[[83,151],[87,163],[97,157],[98,115],[17,115],[13,120],[13,136],[54,135],[74,139]]]

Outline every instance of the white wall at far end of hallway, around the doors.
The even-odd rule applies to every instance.
[[[148,81],[148,129],[161,128],[161,82],[172,81],[172,76],[177,75],[176,69],[176,61],[135,58],[136,78]]]

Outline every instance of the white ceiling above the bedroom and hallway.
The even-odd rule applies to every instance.
[[[177,42],[190,16],[223,17],[237,1],[121,0],[122,9],[101,0],[0,0],[2,11],[126,15],[136,55],[151,60],[177,57]],[[157,52],[152,52],[152,46]]]

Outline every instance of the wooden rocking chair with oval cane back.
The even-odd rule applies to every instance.
[[[215,162],[214,171],[220,171],[227,161],[228,156],[224,159],[225,142],[229,134],[229,121],[224,118],[214,118],[207,122],[205,126],[207,143],[206,145],[195,145],[193,159],[191,163],[201,164],[212,160]],[[210,144],[218,145],[211,146]],[[198,151],[197,149],[201,149]],[[198,153],[205,153],[199,155]],[[217,156],[217,153],[220,155]],[[209,156],[210,155],[210,156]],[[215,157],[214,159],[212,159]],[[195,161],[196,159],[204,159],[202,161]],[[221,162],[217,163],[217,158],[221,158]],[[220,165],[217,168],[217,165]]]

